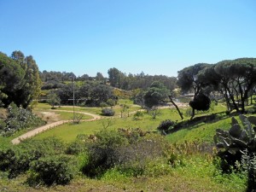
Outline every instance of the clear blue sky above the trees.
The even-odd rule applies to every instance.
[[[256,57],[255,0],[0,0],[0,24],[0,51],[78,76]]]

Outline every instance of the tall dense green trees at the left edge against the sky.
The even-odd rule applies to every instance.
[[[11,102],[26,108],[40,93],[41,80],[32,55],[14,51],[11,57],[0,53],[0,99],[7,107]]]

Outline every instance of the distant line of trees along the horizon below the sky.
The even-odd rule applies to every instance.
[[[147,89],[154,81],[160,81],[169,90],[173,90],[176,87],[177,78],[167,77],[165,75],[148,75],[139,73],[131,74],[120,72],[117,68],[110,68],[108,70],[108,78],[103,77],[102,73],[96,73],[95,77],[90,77],[88,74],[77,77],[74,73],[67,72],[47,72],[40,73],[40,78],[44,82],[42,90],[51,90],[61,88],[66,81],[99,81],[102,84],[110,84],[115,88],[122,90],[136,90]]]

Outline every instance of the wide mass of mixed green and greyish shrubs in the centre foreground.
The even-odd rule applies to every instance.
[[[82,172],[89,177],[102,177],[113,167],[128,175],[142,175],[147,162],[164,154],[165,140],[159,135],[127,131],[100,131],[88,143],[88,156]],[[166,161],[167,162],[167,161]]]

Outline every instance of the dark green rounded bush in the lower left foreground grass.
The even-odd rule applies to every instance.
[[[47,186],[69,183],[73,179],[70,161],[70,158],[64,155],[50,156],[33,161],[27,183],[30,186],[36,186],[38,183],[44,183]]]

